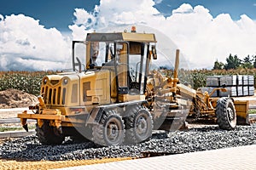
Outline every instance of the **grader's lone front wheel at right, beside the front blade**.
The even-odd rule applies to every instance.
[[[224,130],[236,128],[236,109],[230,98],[220,98],[217,101],[216,115],[218,127]]]

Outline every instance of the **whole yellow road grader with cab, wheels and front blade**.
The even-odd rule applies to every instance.
[[[246,119],[247,103],[212,99],[179,82],[178,49],[173,77],[151,71],[158,59],[156,42],[153,33],[137,33],[135,27],[73,41],[73,69],[43,78],[38,105],[29,106],[33,113],[18,114],[22,126],[27,131],[26,120],[37,120],[42,144],[61,144],[70,136],[119,145],[143,142],[154,129],[177,130],[187,116],[215,117],[228,130],[236,127],[237,113]],[[75,57],[78,44],[84,47],[84,63]]]

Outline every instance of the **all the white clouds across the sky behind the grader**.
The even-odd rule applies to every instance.
[[[154,8],[156,3],[160,1],[101,0],[93,12],[75,8],[76,20],[69,26],[73,40],[84,40],[87,32],[102,28],[117,31],[113,27],[121,26],[118,31],[123,31],[136,25],[141,32],[158,30],[160,57],[173,60],[170,49],[180,48],[190,68],[212,68],[216,59],[224,62],[230,53],[241,58],[256,54],[256,22],[247,15],[240,20],[232,20],[230,14],[214,18],[207,8],[184,3],[165,18]],[[70,67],[70,54],[70,40],[55,28],[46,29],[23,14],[0,14],[0,70],[60,70],[63,64]]]

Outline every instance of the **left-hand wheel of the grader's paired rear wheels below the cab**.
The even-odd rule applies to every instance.
[[[125,124],[116,111],[103,111],[101,120],[92,127],[93,141],[103,146],[120,145],[125,139]]]

